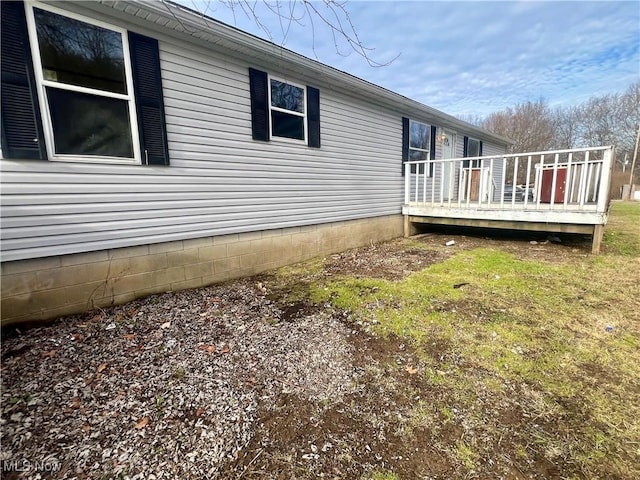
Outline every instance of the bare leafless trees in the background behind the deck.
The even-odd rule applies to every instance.
[[[540,99],[464,120],[510,138],[514,153],[615,145],[615,169],[628,171],[640,125],[640,81],[624,93],[591,97],[577,106],[551,108]]]

